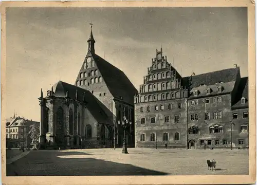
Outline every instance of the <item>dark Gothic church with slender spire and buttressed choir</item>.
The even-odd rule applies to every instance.
[[[95,53],[92,27],[87,42],[88,52],[75,85],[59,81],[47,91],[46,97],[42,92],[39,98],[41,144],[84,148],[122,146],[123,130],[117,122],[126,115],[132,121],[126,132],[127,145],[134,146],[137,90],[121,70]]]

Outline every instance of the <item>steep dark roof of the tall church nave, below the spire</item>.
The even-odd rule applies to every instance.
[[[125,73],[97,54],[94,54],[93,58],[113,97],[119,99],[122,97],[125,102],[134,104],[134,95],[138,91]]]

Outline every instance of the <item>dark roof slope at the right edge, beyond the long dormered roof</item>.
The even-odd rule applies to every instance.
[[[246,98],[244,104],[241,104],[241,98]],[[248,106],[248,77],[241,78],[236,91],[236,97],[232,108]]]

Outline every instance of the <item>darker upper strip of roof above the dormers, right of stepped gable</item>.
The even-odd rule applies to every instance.
[[[217,82],[226,83],[226,82],[235,81],[236,75],[238,72],[239,72],[239,67],[236,67],[236,68],[223,69],[219,71],[213,71],[213,72],[192,76],[191,88],[199,87],[201,84],[205,84],[208,86],[208,85],[213,85]],[[189,79],[190,77],[183,77],[182,85],[185,84],[185,86],[188,86]]]

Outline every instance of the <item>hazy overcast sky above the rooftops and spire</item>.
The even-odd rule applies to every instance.
[[[75,83],[90,22],[96,53],[137,89],[161,45],[183,77],[233,64],[248,76],[247,8],[7,8],[7,117],[40,121],[40,89]]]

